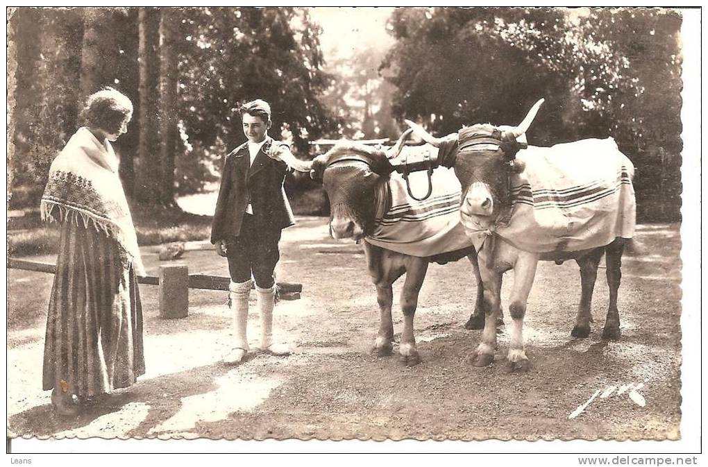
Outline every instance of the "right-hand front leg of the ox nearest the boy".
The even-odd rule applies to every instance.
[[[421,362],[416,349],[416,337],[413,335],[413,317],[418,307],[418,294],[423,287],[423,279],[428,271],[428,260],[411,256],[406,267],[406,280],[401,291],[401,310],[404,316],[404,328],[401,335],[399,352],[407,367],[413,367]]]

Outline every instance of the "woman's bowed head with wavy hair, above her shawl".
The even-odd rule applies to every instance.
[[[86,99],[81,120],[89,127],[116,134],[132,116],[132,102],[114,88],[103,88]]]

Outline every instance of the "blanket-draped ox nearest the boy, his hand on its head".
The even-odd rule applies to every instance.
[[[413,333],[413,316],[428,264],[447,263],[467,256],[476,271],[472,241],[464,229],[459,228],[461,193],[454,175],[449,171],[447,175],[439,172],[436,176],[442,178],[436,178],[437,183],[433,183],[429,175],[426,201],[410,193],[406,167],[411,167],[411,161],[418,163],[418,158],[408,153],[428,154],[422,159],[431,161],[430,153],[438,152],[431,146],[404,152],[405,140],[411,132],[402,134],[388,150],[364,142],[341,140],[312,161],[315,178],[322,180],[329,198],[331,236],[363,244],[367,271],[377,291],[381,321],[374,350],[381,356],[390,354],[393,349],[392,284],[405,273],[399,301],[404,314],[399,353],[409,366],[421,362]],[[399,169],[403,176],[394,173]],[[418,186],[417,181],[411,180],[411,183]],[[433,185],[435,196],[430,196]],[[406,197],[404,187],[411,197]],[[475,272],[470,276],[469,280],[477,284],[477,313],[474,314],[484,320],[479,306],[482,298],[479,275]]]

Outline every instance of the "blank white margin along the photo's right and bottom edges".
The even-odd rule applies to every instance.
[[[84,2],[80,2],[83,4]],[[171,2],[173,5],[179,5],[182,2]],[[210,2],[211,3],[211,2]],[[215,2],[220,4],[221,2]],[[637,4],[638,2],[629,2],[629,4]],[[95,3],[90,3],[95,5]],[[409,2],[409,5],[411,2]],[[38,2],[35,5],[51,5],[49,2]],[[313,5],[304,4],[305,6]],[[160,441],[160,440],[103,440],[103,439],[86,439],[86,440],[38,440],[38,439],[14,439],[12,449],[15,453],[19,451],[33,453],[57,453],[57,452],[142,452],[142,453],[244,453],[244,452],[262,452],[262,453],[292,453],[292,452],[460,452],[460,453],[575,453],[575,452],[611,452],[611,453],[695,453],[702,449],[700,439],[700,427],[702,425],[702,406],[700,393],[702,392],[702,381],[700,378],[700,370],[702,365],[700,362],[700,354],[697,352],[701,348],[701,331],[702,326],[699,325],[700,312],[702,311],[701,288],[696,277],[701,274],[700,258],[697,251],[702,243],[700,241],[700,224],[701,219],[701,144],[699,134],[701,134],[700,120],[698,115],[702,110],[700,100],[697,96],[701,96],[701,79],[699,64],[701,63],[701,48],[702,30],[701,30],[701,11],[700,10],[682,10],[683,13],[683,108],[681,112],[683,122],[683,224],[681,226],[681,239],[683,243],[681,259],[683,261],[683,300],[682,300],[682,318],[681,328],[683,330],[683,365],[682,365],[682,383],[683,383],[683,404],[682,404],[682,422],[681,434],[682,439],[677,442],[586,442],[581,440],[571,442],[500,442],[489,440],[486,442],[300,442],[298,440],[286,440],[276,442],[267,440],[264,442],[224,442],[211,441],[208,439],[198,439],[193,441]],[[701,42],[698,41],[701,38]],[[6,41],[6,39],[5,39]],[[6,64],[5,64],[6,67]],[[6,253],[4,253],[6,255]],[[5,272],[6,274],[6,272]],[[5,276],[6,277],[6,276]],[[703,277],[701,277],[701,285]],[[6,310],[4,311],[6,313]],[[6,315],[5,315],[6,317]],[[4,349],[4,354],[6,349]],[[6,403],[6,401],[5,401]],[[182,455],[182,454],[181,454]],[[44,463],[49,461],[47,456],[42,455],[25,455],[13,454],[12,458],[16,459],[35,459],[34,463]],[[483,461],[478,457],[484,457],[484,460],[499,461],[498,455],[490,454],[489,456],[478,455],[475,461]],[[521,460],[523,463],[535,464],[537,461],[542,461],[544,466],[549,465],[578,465],[578,456],[529,456],[523,459],[518,456],[513,456],[514,461]],[[612,458],[613,456],[610,456]],[[486,459],[489,458],[489,459]],[[60,458],[62,459],[62,458]],[[122,456],[102,456],[97,459],[97,456],[72,456],[72,459],[65,458],[68,462],[74,465],[96,465],[101,463],[105,466],[118,465],[125,463],[126,459]],[[146,460],[149,460],[147,457]],[[217,461],[212,457],[207,457]],[[285,459],[281,458],[282,461]],[[326,459],[319,457],[314,459]],[[426,457],[406,459],[406,462],[417,461],[427,462]],[[175,459],[179,461],[179,459]],[[241,459],[243,461],[245,459]],[[508,459],[512,460],[512,459]],[[185,458],[185,461],[193,461],[191,458]],[[394,461],[394,459],[392,459]],[[398,463],[403,459],[396,457],[395,462]],[[290,461],[287,461],[290,462]],[[557,463],[556,463],[557,462]],[[540,462],[539,462],[540,463]]]

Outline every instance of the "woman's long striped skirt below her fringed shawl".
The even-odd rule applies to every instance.
[[[64,221],[47,315],[42,387],[95,396],[145,373],[135,271],[113,239]]]

